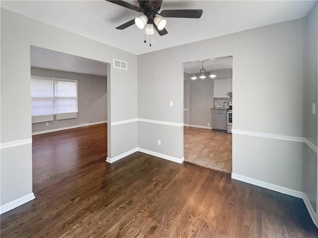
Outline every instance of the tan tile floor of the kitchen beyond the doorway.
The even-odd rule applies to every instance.
[[[232,134],[184,127],[184,160],[232,172]]]

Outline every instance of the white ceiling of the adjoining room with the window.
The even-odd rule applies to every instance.
[[[60,70],[87,75],[107,75],[106,63],[31,46],[31,67]]]

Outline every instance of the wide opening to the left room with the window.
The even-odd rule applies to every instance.
[[[107,158],[109,64],[30,47],[34,192]]]

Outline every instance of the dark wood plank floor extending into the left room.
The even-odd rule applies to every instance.
[[[139,152],[106,163],[106,130],[33,137],[36,199],[1,215],[1,238],[318,237],[301,199]]]

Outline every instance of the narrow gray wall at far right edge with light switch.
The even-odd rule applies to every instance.
[[[317,146],[317,111],[312,114],[312,103],[317,110],[317,47],[318,42],[318,3],[306,18],[305,59],[304,59],[304,137]],[[315,212],[317,210],[317,153],[307,145],[303,151],[303,186]]]

